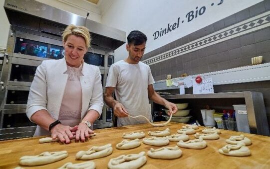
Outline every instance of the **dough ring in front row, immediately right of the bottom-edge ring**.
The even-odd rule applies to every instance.
[[[151,148],[147,152],[147,156],[153,159],[176,159],[182,156],[182,151],[179,147],[162,147],[160,149]]]

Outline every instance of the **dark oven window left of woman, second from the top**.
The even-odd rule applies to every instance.
[[[12,64],[9,81],[32,82],[36,68],[35,66]]]

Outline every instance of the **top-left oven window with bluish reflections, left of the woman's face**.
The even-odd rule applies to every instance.
[[[41,58],[47,57],[48,44],[29,39],[16,38],[14,53],[31,55]]]

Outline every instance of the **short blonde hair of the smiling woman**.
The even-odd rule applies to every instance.
[[[84,26],[68,25],[62,34],[63,42],[65,43],[69,35],[80,36],[84,39],[86,47],[90,47],[91,37],[89,30]]]

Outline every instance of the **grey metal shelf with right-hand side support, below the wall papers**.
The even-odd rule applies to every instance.
[[[250,131],[253,134],[270,136],[266,108],[261,92],[224,92],[212,94],[166,95],[165,99],[198,99],[198,98],[244,98],[247,106]]]

